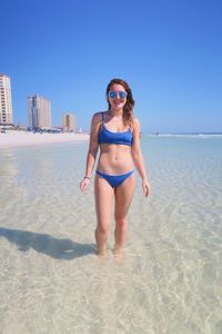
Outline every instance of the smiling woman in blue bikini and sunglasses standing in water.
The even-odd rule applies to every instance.
[[[109,109],[92,117],[85,176],[80,183],[80,189],[87,190],[100,146],[94,195],[98,218],[95,240],[98,254],[102,257],[107,255],[113,198],[115,255],[121,254],[125,243],[128,212],[135,184],[134,166],[142,179],[144,195],[150,194],[140,148],[140,124],[133,117],[134,100],[129,85],[122,79],[112,79],[107,88],[107,100]]]

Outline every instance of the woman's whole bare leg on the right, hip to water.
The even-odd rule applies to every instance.
[[[115,230],[114,230],[114,252],[120,253],[128,236],[128,212],[132,200],[135,177],[132,174],[119,187],[115,188]]]

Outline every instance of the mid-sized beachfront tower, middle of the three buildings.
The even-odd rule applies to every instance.
[[[31,129],[51,128],[51,102],[41,96],[28,97],[28,118]]]

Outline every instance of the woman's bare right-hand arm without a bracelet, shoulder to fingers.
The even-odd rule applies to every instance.
[[[138,169],[138,173],[140,174],[140,177],[142,179],[142,188],[145,197],[148,197],[151,193],[151,187],[148,181],[148,176],[145,173],[145,165],[140,147],[140,122],[135,118],[133,124],[133,144],[132,144],[132,159],[135,165],[135,168]]]

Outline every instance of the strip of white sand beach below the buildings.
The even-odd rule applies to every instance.
[[[27,131],[8,131],[0,134],[0,147],[42,145],[64,141],[89,140],[87,134],[33,134]]]

